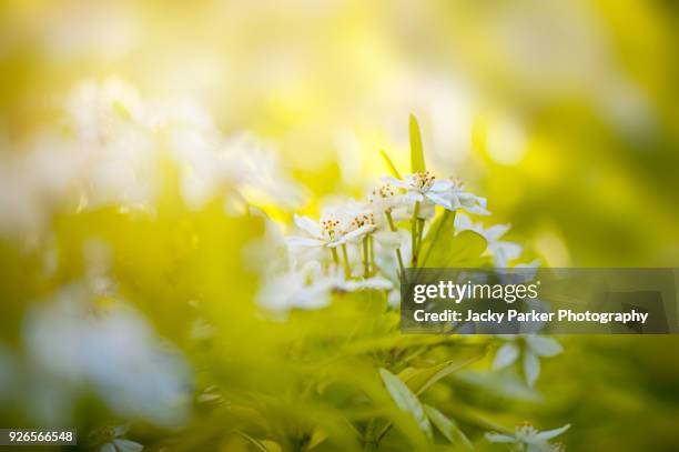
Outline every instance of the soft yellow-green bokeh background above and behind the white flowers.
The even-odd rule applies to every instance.
[[[545,264],[676,267],[678,24],[677,4],[659,0],[8,0],[0,157],[23,152],[73,86],[116,77],[146,98],[195,100],[226,134],[275,143],[312,193],[300,210],[314,211],[325,197],[363,193],[386,173],[381,149],[405,168],[415,113],[429,167],[486,195],[494,221],[510,222],[510,239]],[[32,182],[22,169],[13,179],[4,170],[2,334],[11,346],[19,341],[11,321],[23,311],[10,307],[42,289],[22,279],[31,263],[14,254],[24,238],[12,228],[10,201]],[[275,207],[268,213],[290,219]],[[48,231],[70,227],[27,218],[47,221]],[[171,331],[172,314],[181,312],[159,328]],[[517,403],[519,413],[572,423],[571,450],[679,448],[679,340],[568,338],[566,345],[545,366],[547,396]]]

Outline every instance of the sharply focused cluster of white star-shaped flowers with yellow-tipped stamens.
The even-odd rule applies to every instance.
[[[396,302],[405,269],[425,263],[423,240],[437,210],[455,215],[455,233],[473,231],[483,237],[485,255],[495,267],[509,267],[520,257],[519,244],[500,240],[508,224],[485,228],[472,220],[469,214],[490,212],[486,199],[466,191],[459,180],[437,179],[426,170],[405,177],[395,169],[393,173],[382,178],[365,199],[322,209],[318,220],[295,214],[297,232],[285,240],[285,271],[267,275],[261,304],[283,312],[315,309],[327,305],[333,291],[349,288],[387,288],[389,300]]]

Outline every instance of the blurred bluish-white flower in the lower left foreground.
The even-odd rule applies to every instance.
[[[120,415],[159,425],[184,422],[191,379],[180,354],[131,307],[93,309],[79,287],[32,307],[24,341],[36,371],[52,383],[92,388]]]

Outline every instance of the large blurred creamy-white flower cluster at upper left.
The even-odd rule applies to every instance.
[[[154,212],[168,162],[194,210],[215,195],[232,210],[236,200],[290,209],[305,195],[271,143],[224,135],[191,99],[143,99],[109,78],[77,84],[57,111],[59,127],[26,143],[0,140],[0,234],[38,231],[72,199],[79,211]]]

